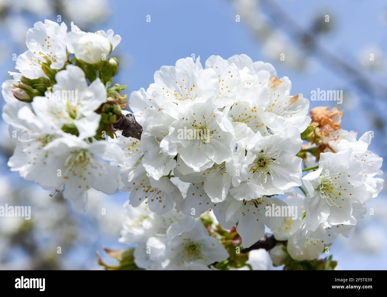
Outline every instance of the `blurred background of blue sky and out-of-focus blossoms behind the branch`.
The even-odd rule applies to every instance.
[[[46,18],[68,27],[74,21],[84,31],[120,34],[115,49],[120,73],[114,82],[128,84],[128,93],[146,88],[154,71],[179,58],[200,56],[203,62],[212,54],[228,58],[242,53],[272,63],[280,77],[291,79],[294,93],[306,98],[317,88],[343,90],[341,105],[311,101],[310,108],[344,110],[342,128],[359,136],[373,130],[371,149],[387,160],[383,0],[0,0],[2,81],[9,79],[7,71],[14,71],[15,54],[26,50],[27,29]],[[13,149],[8,127],[0,122],[0,205],[29,205],[32,212],[31,220],[0,217],[0,269],[101,269],[95,256],[101,246],[125,247],[117,239],[126,193],[89,192],[87,211],[77,212],[60,195],[50,197],[10,172],[7,160]],[[368,214],[351,237],[339,237],[331,246],[337,269],[387,269],[386,212],[383,190],[368,204]],[[258,252],[252,263],[272,269],[268,259]]]

